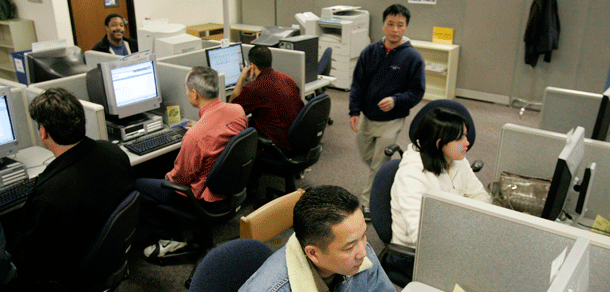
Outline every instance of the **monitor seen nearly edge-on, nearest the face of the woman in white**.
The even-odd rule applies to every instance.
[[[559,154],[549,193],[542,209],[542,218],[555,220],[561,214],[568,192],[573,190],[574,175],[580,166],[585,149],[585,129],[577,127],[568,132],[566,145]]]

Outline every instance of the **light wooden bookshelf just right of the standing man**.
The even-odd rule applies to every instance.
[[[426,62],[424,99],[455,98],[460,46],[416,40],[411,40],[411,45],[417,49]]]

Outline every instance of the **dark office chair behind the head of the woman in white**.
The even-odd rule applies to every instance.
[[[414,135],[415,135],[415,131],[417,130],[417,127],[419,126],[419,123],[421,122],[421,120],[423,119],[423,117],[426,115],[426,113],[429,110],[431,110],[433,108],[437,108],[437,107],[442,107],[442,108],[447,108],[447,109],[453,110],[468,120],[470,125],[468,127],[468,133],[467,133],[466,137],[468,138],[468,142],[470,143],[470,145],[468,146],[468,150],[470,150],[470,148],[472,148],[472,145],[474,145],[474,141],[477,136],[476,129],[474,126],[474,121],[472,120],[472,117],[470,116],[468,109],[466,109],[466,107],[464,105],[462,105],[461,103],[459,103],[455,100],[438,99],[438,100],[434,100],[434,101],[431,101],[428,104],[426,104],[415,115],[415,117],[413,118],[413,121],[411,122],[411,125],[409,126],[409,139],[411,139],[411,141],[415,141]],[[395,152],[398,152],[400,154],[400,156],[402,157],[403,151],[402,151],[402,149],[400,149],[400,146],[398,146],[396,144],[390,145],[385,149],[385,155],[387,155],[387,156],[392,156],[392,155],[394,155]],[[475,160],[471,165],[472,171],[474,171],[474,172],[480,171],[481,168],[483,168],[483,165],[484,165],[483,161]]]

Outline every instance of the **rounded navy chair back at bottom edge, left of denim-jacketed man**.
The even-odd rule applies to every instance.
[[[203,258],[189,292],[236,292],[272,254],[271,248],[258,240],[227,241]]]

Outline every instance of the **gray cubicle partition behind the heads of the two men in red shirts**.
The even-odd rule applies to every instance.
[[[248,52],[253,45],[242,44],[244,59],[248,60]],[[305,96],[305,53],[294,50],[270,48],[273,58],[273,69],[287,74],[296,82],[301,90],[301,98]],[[174,64],[186,67],[207,65],[205,50],[197,50],[185,54],[159,58],[159,63]],[[223,93],[221,92],[221,95]],[[221,100],[225,100],[221,96]]]

